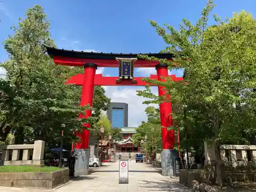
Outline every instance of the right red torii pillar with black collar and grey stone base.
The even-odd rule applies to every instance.
[[[157,76],[159,81],[165,81],[164,78],[168,77],[167,65],[159,63],[156,65]],[[175,158],[179,157],[179,153],[174,150],[175,134],[174,130],[167,131],[167,127],[170,127],[173,123],[172,120],[172,103],[170,102],[170,95],[166,95],[164,87],[158,87],[158,95],[165,96],[167,102],[159,104],[160,108],[160,120],[162,131],[162,152],[161,152],[161,164],[163,176],[174,176],[174,163]],[[169,100],[169,102],[168,102]]]

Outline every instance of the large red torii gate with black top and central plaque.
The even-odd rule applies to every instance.
[[[78,52],[69,51],[63,49],[55,49],[48,47],[47,52],[53,58],[56,65],[63,66],[75,66],[84,67],[84,74],[77,74],[67,80],[66,83],[76,84],[82,86],[82,94],[80,105],[84,106],[89,104],[92,106],[93,103],[93,92],[94,86],[145,86],[147,83],[142,79],[145,77],[133,77],[133,68],[156,68],[157,75],[151,75],[151,79],[157,79],[164,81],[164,78],[170,77],[174,81],[183,81],[182,77],[176,77],[176,75],[168,75],[167,65],[159,63],[158,61],[149,61],[141,58],[137,58],[138,54],[114,54],[114,53],[94,53],[94,52]],[[141,53],[140,53],[141,54]],[[147,56],[154,56],[159,59],[171,60],[173,55],[169,53],[149,53],[142,54]],[[130,59],[130,61],[129,61]],[[121,61],[123,60],[123,61]],[[134,62],[132,61],[134,60]],[[128,64],[127,64],[128,63]],[[124,75],[122,71],[124,66],[127,64],[130,68],[128,69],[129,74]],[[102,74],[96,74],[97,67],[119,67],[119,77],[103,77]],[[126,73],[125,72],[125,73]],[[120,76],[121,75],[121,76]],[[126,77],[125,77],[126,76]],[[150,84],[150,86],[156,86]],[[163,87],[158,87],[159,96],[166,95]],[[166,99],[170,100],[170,95],[166,95]],[[160,108],[160,119],[162,126],[162,148],[164,150],[173,150],[175,144],[174,130],[167,131],[166,127],[172,125],[172,103],[162,102],[159,104]],[[91,117],[92,111],[87,110],[85,118]],[[84,118],[84,117],[82,117]],[[85,126],[90,127],[90,124]],[[89,147],[89,131],[83,129],[80,133],[80,143],[76,143],[76,149],[87,149]],[[169,152],[168,152],[169,154]],[[172,154],[170,154],[172,155]],[[162,158],[163,161],[164,158]],[[168,168],[169,169],[169,168]],[[163,175],[172,175],[167,173]]]

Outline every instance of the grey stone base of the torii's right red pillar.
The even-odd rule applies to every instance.
[[[162,176],[174,176],[174,158],[179,158],[179,153],[176,150],[161,152]]]

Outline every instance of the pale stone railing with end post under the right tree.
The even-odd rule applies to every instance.
[[[205,165],[215,162],[214,150],[204,143]],[[256,166],[256,145],[221,145],[221,160],[226,166]]]

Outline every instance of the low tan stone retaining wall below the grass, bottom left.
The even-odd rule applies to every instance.
[[[69,169],[49,173],[0,173],[0,186],[52,189],[69,181]]]

